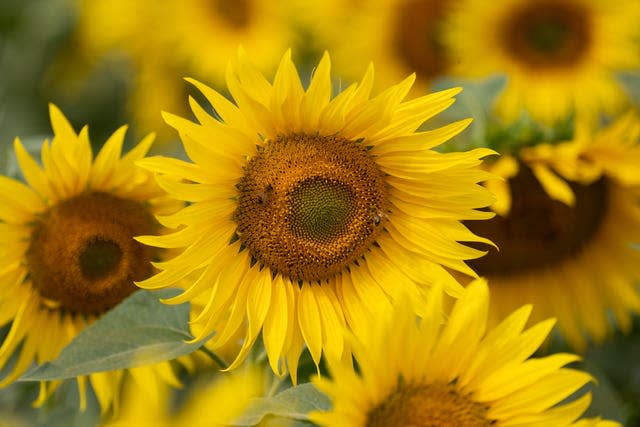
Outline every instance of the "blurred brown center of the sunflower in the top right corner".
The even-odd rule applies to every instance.
[[[500,32],[511,58],[540,69],[570,67],[585,57],[592,22],[582,5],[571,0],[521,3]]]

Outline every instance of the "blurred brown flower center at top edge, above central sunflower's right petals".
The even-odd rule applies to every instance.
[[[441,37],[444,0],[413,0],[403,3],[396,16],[395,46],[407,65],[422,79],[443,74],[448,60]]]

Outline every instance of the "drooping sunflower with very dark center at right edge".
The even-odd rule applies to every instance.
[[[556,317],[579,350],[640,312],[640,119],[627,114],[574,140],[522,148],[491,170],[499,213],[469,222],[500,252],[470,266],[491,283],[492,317],[532,303],[536,318]]]

